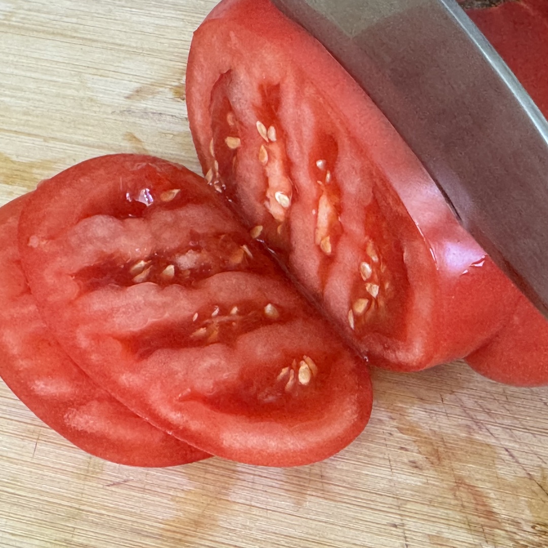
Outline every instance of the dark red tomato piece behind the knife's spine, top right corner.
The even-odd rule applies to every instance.
[[[466,13],[548,116],[548,2],[464,0],[463,6],[470,6]]]

